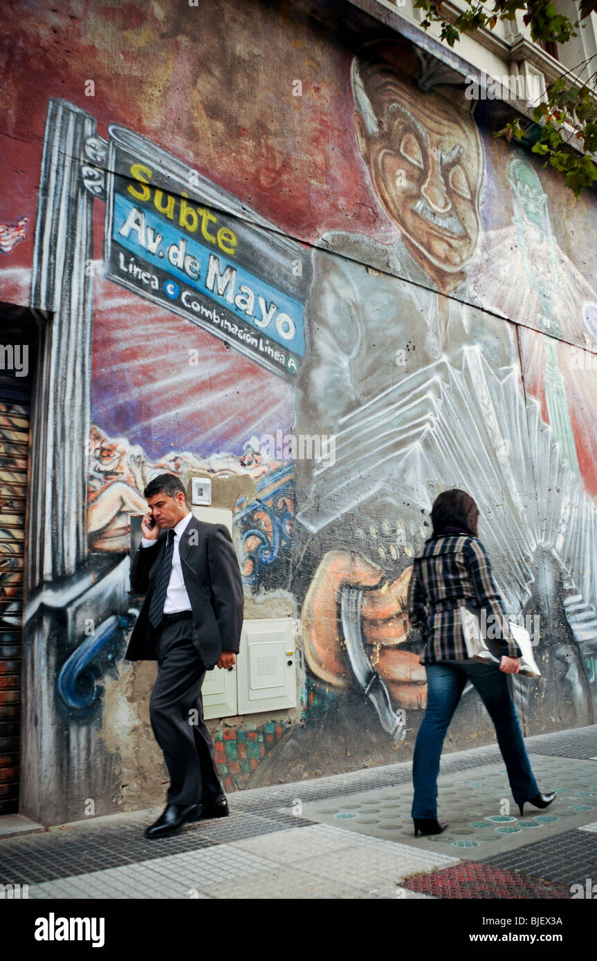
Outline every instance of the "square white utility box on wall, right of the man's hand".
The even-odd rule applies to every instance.
[[[296,706],[296,650],[290,617],[245,621],[236,659],[238,713]]]

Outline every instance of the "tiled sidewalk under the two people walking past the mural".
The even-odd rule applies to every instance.
[[[231,817],[162,841],[143,831],[163,805],[15,833],[0,883],[30,899],[570,899],[597,881],[597,725],[526,744],[558,798],[523,818],[494,745],[442,758],[435,838],[413,837],[405,762],[239,791]]]

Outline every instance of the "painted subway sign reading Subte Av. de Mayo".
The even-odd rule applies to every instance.
[[[124,128],[111,128],[109,170],[107,276],[293,380],[305,353],[301,246]]]

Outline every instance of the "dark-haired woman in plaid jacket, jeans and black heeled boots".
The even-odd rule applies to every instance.
[[[431,516],[433,534],[414,559],[409,585],[409,620],[426,642],[421,664],[427,673],[427,709],[412,758],[415,837],[419,832],[440,834],[447,827],[437,822],[439,758],[467,680],[479,692],[495,727],[521,816],[525,803],[544,808],[556,797],[541,794],[537,787],[510,696],[506,676],[518,673],[521,652],[513,639],[501,636],[507,621],[489,558],[477,536],[479,508],[464,491],[447,490],[435,499]],[[503,654],[499,666],[467,657],[462,604],[485,608],[487,623],[498,626],[495,635]]]

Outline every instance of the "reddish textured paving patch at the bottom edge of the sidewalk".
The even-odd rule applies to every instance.
[[[537,877],[504,871],[486,863],[458,864],[432,875],[416,875],[403,882],[405,888],[434,898],[466,899],[561,899],[566,888]]]

